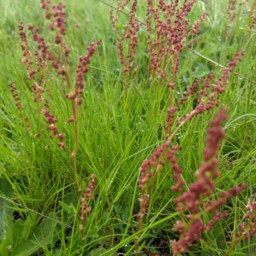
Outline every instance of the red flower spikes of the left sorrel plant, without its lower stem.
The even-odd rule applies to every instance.
[[[49,102],[47,99],[44,99],[42,97],[42,93],[44,93],[44,90],[42,89],[42,84],[44,84],[44,74],[45,72],[40,72],[42,69],[44,69],[44,62],[50,61],[52,64],[52,67],[56,69],[56,73],[58,75],[64,76],[68,89],[70,93],[67,93],[67,98],[70,100],[76,100],[77,106],[79,106],[82,103],[81,100],[81,94],[83,93],[83,87],[84,87],[84,81],[83,81],[83,75],[88,72],[88,64],[90,63],[90,58],[93,56],[95,50],[100,44],[100,40],[93,44],[91,43],[88,47],[88,54],[85,57],[79,58],[79,64],[77,67],[77,82],[76,82],[76,88],[72,88],[71,80],[68,75],[68,67],[67,67],[67,56],[70,52],[70,49],[68,49],[65,40],[63,38],[64,35],[66,35],[66,28],[65,24],[67,23],[67,20],[65,19],[66,13],[63,11],[65,8],[65,5],[63,3],[58,3],[57,5],[51,5],[50,0],[41,0],[41,7],[45,10],[45,19],[50,20],[48,28],[51,31],[56,32],[56,38],[55,38],[55,44],[60,44],[61,46],[61,52],[63,52],[63,61],[61,61],[60,58],[55,58],[54,54],[49,51],[49,45],[46,44],[45,39],[43,36],[39,35],[39,28],[35,28],[33,24],[29,24],[28,29],[29,31],[33,32],[33,40],[38,45],[38,50],[40,51],[40,54],[36,51],[35,52],[35,58],[36,58],[36,65],[37,69],[35,70],[32,65],[33,61],[31,61],[31,58],[33,55],[30,51],[27,49],[27,38],[26,33],[24,32],[24,27],[22,26],[22,22],[19,24],[19,30],[20,30],[20,39],[22,41],[22,51],[23,51],[23,62],[26,64],[27,70],[29,70],[28,79],[35,80],[35,74],[38,72],[40,74],[40,79],[38,81],[39,86],[36,85],[36,83],[33,83],[31,85],[33,94],[35,95],[34,101],[43,101],[44,109],[40,109],[42,113],[44,113],[45,118],[47,119],[47,123],[49,124],[49,127],[47,128],[49,131],[52,131],[54,136],[60,140],[59,146],[60,148],[65,148],[65,144],[63,143],[64,136],[58,131],[58,128],[56,127],[55,123],[57,120],[54,118],[54,115],[52,115],[51,111],[49,110]],[[50,93],[50,92],[48,92]],[[18,103],[17,103],[18,104]],[[72,109],[73,109],[73,115],[67,119],[67,122],[74,122],[77,119],[77,108],[72,102]],[[39,134],[39,133],[38,133]],[[52,138],[52,136],[50,135]],[[67,149],[67,148],[66,148]]]

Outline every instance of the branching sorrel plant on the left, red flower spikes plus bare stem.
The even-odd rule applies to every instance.
[[[86,74],[89,71],[88,64],[90,63],[90,58],[93,56],[95,50],[100,44],[100,40],[94,44],[90,43],[90,46],[87,48],[88,53],[86,56],[80,56],[79,57],[79,63],[77,65],[77,78],[76,78],[76,86],[73,86],[73,83],[70,78],[70,69],[68,68],[68,62],[67,57],[70,54],[70,49],[68,49],[67,44],[64,40],[64,36],[66,35],[66,28],[65,24],[67,20],[65,19],[65,12],[63,9],[65,8],[65,4],[58,3],[57,5],[51,5],[51,1],[45,1],[41,0],[41,7],[45,10],[45,19],[49,20],[49,25],[47,28],[50,31],[54,31],[55,33],[55,41],[54,43],[56,45],[60,45],[60,54],[61,56],[57,56],[54,52],[50,51],[49,45],[45,42],[45,38],[40,36],[38,33],[40,29],[38,27],[34,28],[32,24],[29,24],[28,29],[32,31],[33,33],[33,40],[38,44],[38,49],[40,52],[35,52],[35,64],[33,63],[33,54],[28,50],[28,41],[26,38],[26,33],[24,32],[24,27],[22,26],[22,22],[19,24],[19,30],[20,30],[20,40],[22,41],[21,49],[23,52],[24,58],[22,59],[22,62],[26,64],[26,69],[28,70],[28,79],[31,81],[31,88],[33,92],[34,101],[36,103],[37,108],[37,115],[38,115],[38,127],[37,129],[40,129],[40,114],[42,113],[45,118],[46,122],[49,125],[47,127],[47,130],[51,131],[53,134],[53,137],[51,134],[49,134],[49,138],[53,139],[56,138],[58,141],[58,145],[60,148],[67,151],[69,154],[71,160],[72,160],[72,169],[74,173],[74,181],[76,183],[77,190],[81,191],[81,186],[79,184],[79,179],[77,177],[77,166],[76,166],[76,157],[77,157],[77,148],[78,148],[78,118],[79,118],[79,107],[82,104],[82,97],[83,94],[83,88],[84,88],[84,74]],[[57,120],[56,116],[54,116],[53,113],[51,113],[51,90],[47,88],[45,85],[47,81],[46,79],[49,79],[47,77],[47,65],[46,61],[49,61],[51,63],[52,67],[56,70],[57,76],[61,76],[62,83],[67,84],[67,88],[63,87],[61,90],[65,93],[65,96],[68,100],[70,100],[70,105],[72,109],[72,115],[67,118],[67,123],[73,123],[74,127],[74,140],[73,140],[73,148],[70,150],[70,148],[65,145],[63,142],[65,140],[65,136],[63,133],[60,132],[61,127],[59,125],[56,125]],[[35,67],[33,68],[33,64]],[[36,76],[39,78],[39,81],[36,81]],[[16,101],[16,106],[23,109],[20,106],[19,102],[19,95],[17,94],[17,89],[15,86],[11,85],[13,97]],[[26,114],[23,114],[26,116]],[[25,122],[29,122],[28,118],[25,117]],[[58,127],[59,126],[59,127]],[[30,130],[31,127],[29,126],[28,129]],[[36,138],[40,137],[41,131],[37,131],[34,136]],[[71,139],[71,138],[69,138]],[[45,148],[49,148],[49,145],[45,145]]]

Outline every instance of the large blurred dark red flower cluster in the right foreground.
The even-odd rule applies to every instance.
[[[221,109],[220,113],[211,122],[211,127],[207,130],[207,146],[204,150],[205,162],[196,171],[196,182],[189,186],[188,191],[183,190],[184,182],[180,179],[182,170],[177,166],[173,154],[170,154],[173,178],[177,182],[171,189],[178,191],[180,194],[174,200],[177,205],[176,211],[189,212],[187,214],[188,222],[184,220],[177,221],[173,227],[174,231],[180,233],[179,241],[171,241],[173,254],[175,255],[186,253],[191,243],[198,241],[205,230],[211,230],[214,223],[227,216],[226,211],[218,212],[209,223],[204,224],[200,218],[202,214],[206,212],[213,214],[220,209],[221,205],[225,205],[228,199],[237,196],[245,188],[245,183],[243,183],[241,186],[235,186],[227,192],[220,193],[218,200],[209,200],[215,190],[214,179],[220,176],[219,161],[216,156],[220,148],[220,142],[225,136],[225,132],[221,128],[221,123],[227,118],[225,112],[226,109]]]

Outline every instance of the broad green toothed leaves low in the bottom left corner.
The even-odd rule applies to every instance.
[[[10,190],[10,184],[6,180],[1,179],[0,181],[1,188],[4,188],[3,184],[5,184]],[[6,190],[5,187],[1,192],[8,193],[8,189]],[[73,198],[74,204],[77,204],[76,196],[69,194],[66,196],[65,202],[60,202],[60,205],[65,205],[66,209],[74,209],[74,205],[69,201],[70,198]],[[4,198],[1,198],[1,200],[9,202]],[[68,201],[70,205],[66,204]],[[9,209],[12,210],[12,203],[9,203],[8,206],[4,203],[1,205],[6,209],[9,206]],[[35,214],[33,213],[29,214],[25,221],[19,218],[13,222],[11,217],[13,210],[11,212],[8,211],[8,214],[11,215],[7,215],[6,209],[4,209],[5,213],[1,215],[3,216],[1,225],[4,225],[4,228],[1,230],[1,237],[3,239],[0,243],[0,252],[3,256],[38,255],[38,252],[42,252],[42,248],[44,250],[54,248],[55,243],[60,240],[62,232],[65,232],[70,227],[70,224],[72,224],[72,217],[74,217],[74,214],[63,208],[63,211],[57,213],[50,212],[48,218],[45,216],[39,224],[36,222]],[[58,215],[63,216],[61,221],[58,220]]]

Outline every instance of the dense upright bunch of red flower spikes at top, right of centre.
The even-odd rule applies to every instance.
[[[200,32],[199,26],[204,20],[207,13],[204,13],[195,24],[188,30],[189,19],[187,18],[195,0],[184,1],[183,5],[178,7],[179,1],[173,1],[167,4],[161,0],[154,6],[153,1],[147,1],[147,44],[148,53],[150,54],[149,74],[155,71],[159,79],[166,80],[168,87],[174,89],[175,76],[179,70],[179,56],[184,49],[186,38],[196,35]],[[152,21],[154,24],[152,26]],[[150,32],[156,28],[153,39]],[[191,42],[192,43],[192,42]],[[170,58],[170,57],[173,58]],[[167,68],[170,67],[170,72]]]

